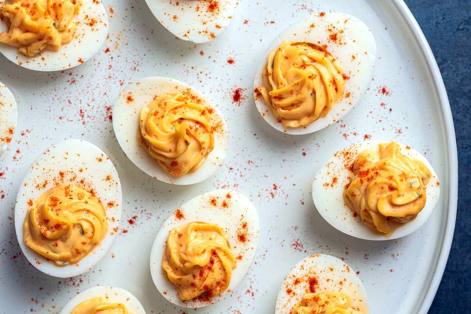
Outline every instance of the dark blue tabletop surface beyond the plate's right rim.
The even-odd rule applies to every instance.
[[[429,314],[471,313],[471,0],[406,0],[437,59],[458,146],[458,213],[445,274]]]

